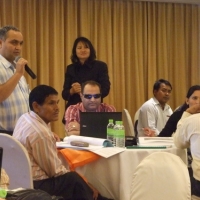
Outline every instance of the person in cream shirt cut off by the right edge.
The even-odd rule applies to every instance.
[[[178,122],[174,143],[178,148],[190,147],[192,154],[191,193],[200,197],[200,98],[189,107]]]

